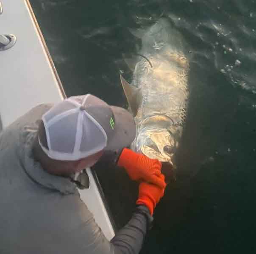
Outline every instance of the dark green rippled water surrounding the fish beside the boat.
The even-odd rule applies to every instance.
[[[255,253],[256,1],[31,0],[68,96],[92,93],[126,106],[122,54],[140,40],[129,28],[168,17],[189,44],[189,110],[178,181],[156,209],[142,253]],[[117,229],[137,185],[97,168]]]

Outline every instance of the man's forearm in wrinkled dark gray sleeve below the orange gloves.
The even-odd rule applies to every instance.
[[[120,254],[138,254],[142,248],[145,235],[150,229],[153,217],[144,205],[139,205],[131,218],[111,240]]]

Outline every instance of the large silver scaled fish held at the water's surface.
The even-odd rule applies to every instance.
[[[131,149],[152,159],[175,164],[186,121],[189,59],[186,41],[167,18],[146,30],[131,31],[142,41],[128,83],[120,75],[136,137]]]

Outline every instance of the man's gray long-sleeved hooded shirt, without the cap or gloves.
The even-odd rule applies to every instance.
[[[45,171],[31,146],[39,105],[0,133],[1,254],[137,254],[152,220],[139,206],[109,242],[69,179]]]

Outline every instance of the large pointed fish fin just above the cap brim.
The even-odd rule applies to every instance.
[[[131,108],[132,113],[136,116],[141,100],[140,89],[134,86],[131,86],[125,79],[120,75],[120,80],[122,88],[125,92],[125,97],[128,101],[129,107]]]

